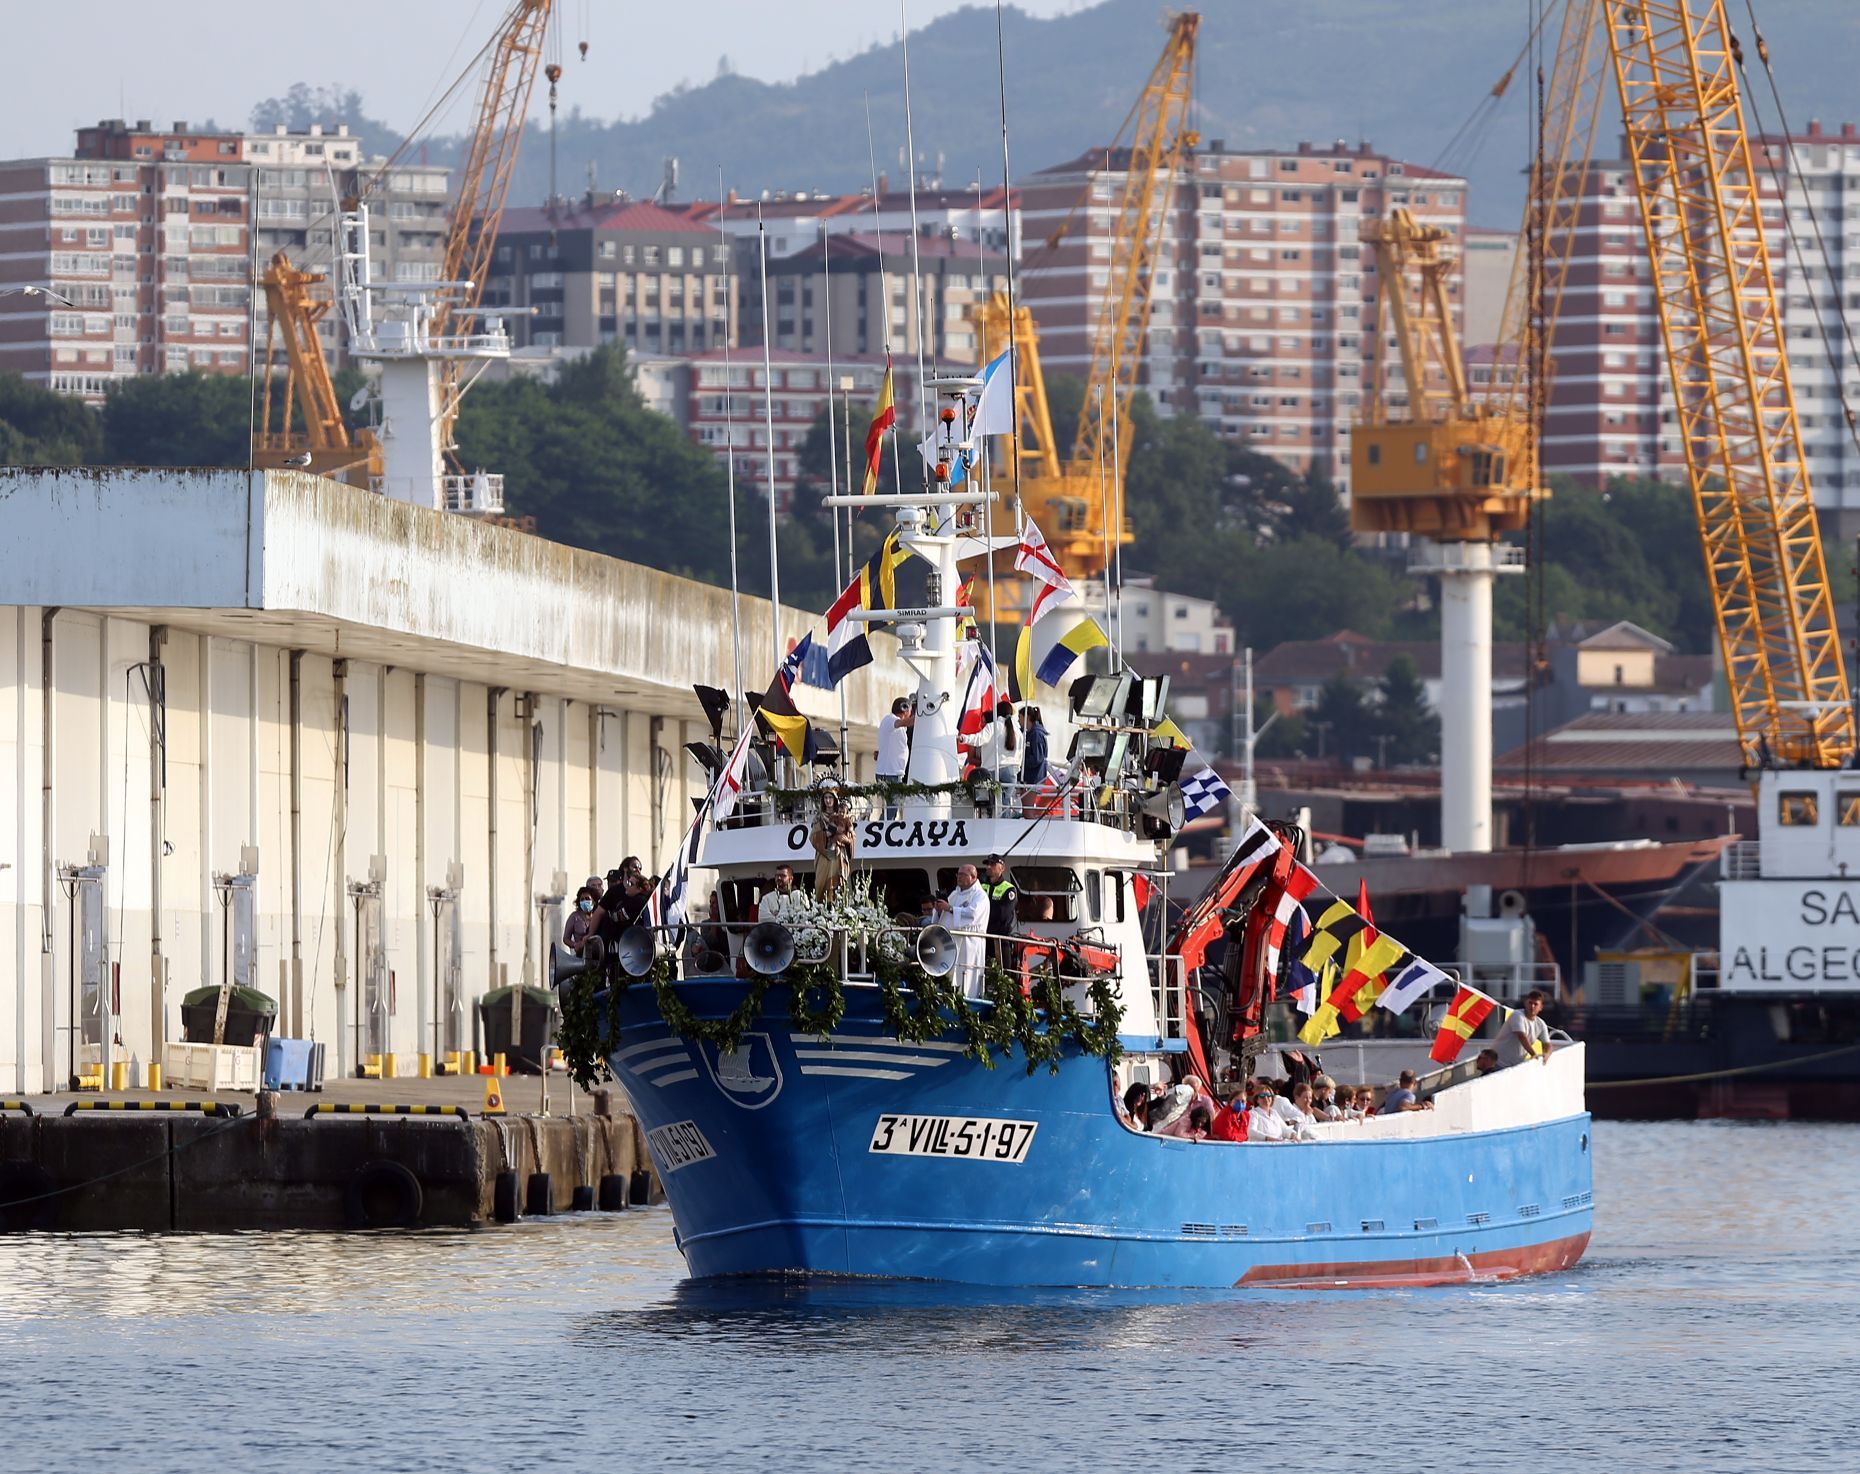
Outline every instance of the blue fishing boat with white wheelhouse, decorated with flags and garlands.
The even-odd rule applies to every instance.
[[[967,424],[978,382],[941,391]],[[1380,1286],[1574,1266],[1592,1223],[1577,1042],[1490,1074],[1453,1065],[1421,1081],[1428,1109],[1296,1141],[1162,1135],[1120,1109],[1133,1085],[1244,1083],[1309,871],[1293,832],[1252,821],[1159,925],[1196,782],[1159,735],[1164,681],[1075,681],[1051,722],[1066,761],[1040,784],[963,770],[980,651],[939,590],[1003,545],[963,502],[982,495],[869,502],[926,575],[921,605],[870,596],[872,579],[841,610],[887,627],[919,672],[904,782],[764,785],[746,778],[751,733],[729,759],[720,741],[684,851],[714,877],[712,919],[677,914],[692,886],[673,867],[657,925],[564,968],[584,970],[567,986],[645,1128],[690,1273]],[[967,906],[963,867],[990,856],[1014,925]]]

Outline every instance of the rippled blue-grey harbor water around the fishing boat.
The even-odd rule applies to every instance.
[[[1451,1290],[688,1284],[664,1210],[0,1238],[0,1467],[1860,1463],[1854,1128],[1598,1122],[1594,1143],[1587,1262]]]

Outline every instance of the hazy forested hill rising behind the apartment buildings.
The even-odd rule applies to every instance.
[[[1525,41],[1527,4],[1499,0],[1205,0],[1200,128],[1229,147],[1289,147],[1298,140],[1367,138],[1417,164],[1434,164]],[[1791,123],[1836,125],[1853,102],[1851,58],[1860,54],[1853,0],[1767,0],[1760,6]],[[1743,17],[1743,7],[1735,7]],[[1008,9],[1004,52],[1016,175],[1109,141],[1162,45],[1157,0],[1105,0],[1049,20]],[[830,39],[830,37],[824,37]],[[1754,47],[1747,41],[1747,52]],[[722,45],[720,45],[722,50]],[[1490,119],[1468,168],[1473,218],[1508,225],[1521,205],[1527,158],[1529,65]],[[575,102],[575,67],[562,86]],[[718,168],[738,194],[857,190],[870,182],[865,99],[870,97],[878,168],[897,182],[904,140],[898,43],[874,47],[796,82],[718,74],[679,86],[638,115],[601,121],[564,114],[558,177],[580,188],[593,164],[601,188],[649,195],[666,156],[683,164],[684,194],[714,192]],[[911,95],[924,175],[943,158],[950,186],[1001,181],[995,11],[971,6],[911,35]],[[1860,108],[1856,108],[1860,112]],[[1605,117],[1598,145],[1618,128]],[[456,140],[430,145],[456,160]],[[512,199],[547,190],[547,130],[532,127]]]

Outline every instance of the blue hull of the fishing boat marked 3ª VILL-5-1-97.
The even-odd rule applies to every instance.
[[[699,1016],[733,981],[681,986]],[[1308,1145],[1125,1130],[1103,1061],[986,1068],[904,1044],[848,990],[831,1044],[785,988],[737,1055],[621,998],[612,1057],[694,1277],[882,1275],[1021,1286],[1438,1284],[1566,1269],[1592,1221],[1583,1111]]]

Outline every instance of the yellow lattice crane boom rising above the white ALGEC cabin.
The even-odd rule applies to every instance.
[[[1745,761],[1838,767],[1847,670],[1724,0],[1605,0],[1680,445]]]

